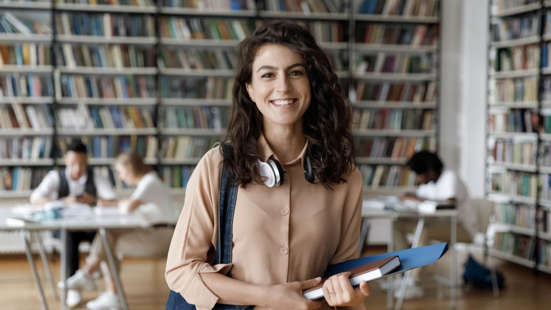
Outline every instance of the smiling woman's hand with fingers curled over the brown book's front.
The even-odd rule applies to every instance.
[[[368,282],[361,281],[356,288],[350,285],[348,277],[352,272],[331,276],[323,284],[323,297],[331,307],[354,307],[364,302],[371,293]]]

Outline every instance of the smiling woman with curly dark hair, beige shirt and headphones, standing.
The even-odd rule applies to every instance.
[[[166,309],[365,309],[369,285],[347,274],[325,281],[325,300],[301,293],[358,257],[363,182],[337,75],[286,20],[237,50],[224,145],[194,170],[170,244]]]

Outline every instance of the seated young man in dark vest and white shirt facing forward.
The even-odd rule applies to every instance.
[[[67,147],[63,162],[66,168],[48,172],[40,185],[33,191],[29,199],[31,204],[42,205],[46,202],[61,200],[70,206],[73,202],[94,205],[96,202],[107,204],[116,201],[117,195],[111,187],[110,181],[102,177],[101,173],[93,172],[91,167],[88,167],[86,146],[82,142],[73,141]],[[83,241],[91,242],[94,236],[95,231],[67,232],[69,276],[72,276],[78,269],[78,245]],[[67,305],[73,307],[79,302],[80,293],[70,290],[67,294]]]

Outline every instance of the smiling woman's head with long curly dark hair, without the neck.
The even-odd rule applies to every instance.
[[[355,163],[348,131],[350,106],[314,37],[299,25],[278,20],[258,28],[237,50],[231,121],[224,140],[232,141],[240,158],[228,162],[239,184],[251,178],[261,181],[255,170],[256,142],[274,124],[293,124],[295,136],[306,138],[318,181],[344,181],[342,174]]]

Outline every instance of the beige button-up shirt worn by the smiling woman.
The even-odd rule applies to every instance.
[[[274,154],[262,135],[258,149],[264,161]],[[214,266],[209,262],[218,239],[222,154],[216,147],[203,156],[188,182],[170,244],[165,277],[171,290],[198,309],[212,309],[218,296],[203,283],[202,273],[226,274],[231,268],[233,279],[277,285],[323,276],[327,265],[358,257],[359,170],[345,175],[347,182],[332,185],[333,190],[310,184],[302,170],[305,152],[306,146],[298,158],[282,164],[282,186],[253,182],[237,190],[232,263]]]

